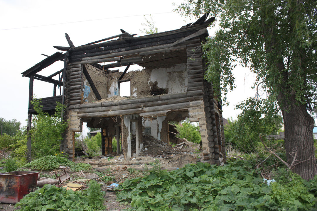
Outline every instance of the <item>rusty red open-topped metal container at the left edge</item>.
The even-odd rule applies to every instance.
[[[0,174],[0,202],[15,204],[36,187],[39,172],[10,171]]]

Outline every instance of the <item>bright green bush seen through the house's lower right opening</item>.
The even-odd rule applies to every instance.
[[[188,141],[199,144],[201,141],[201,136],[199,133],[199,126],[189,122],[189,119],[186,119],[182,125],[178,124],[176,126],[177,131],[179,132],[178,138],[185,138]]]

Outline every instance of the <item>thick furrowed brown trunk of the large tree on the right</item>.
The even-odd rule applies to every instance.
[[[287,163],[292,164],[297,152],[292,171],[305,180],[313,179],[317,174],[313,140],[314,119],[308,114],[306,106],[300,104],[294,95],[285,96],[279,93],[277,100],[284,120]]]

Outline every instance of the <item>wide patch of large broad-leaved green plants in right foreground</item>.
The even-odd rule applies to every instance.
[[[267,186],[248,161],[224,166],[188,164],[174,171],[151,172],[126,180],[118,201],[131,202],[131,210],[309,210],[316,198],[305,181],[292,175]]]

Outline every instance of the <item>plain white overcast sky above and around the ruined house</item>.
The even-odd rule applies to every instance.
[[[173,2],[176,5],[182,3],[179,0]],[[184,17],[173,13],[175,6],[168,0],[0,0],[0,8],[0,117],[17,119],[22,125],[26,125],[27,119],[29,78],[22,77],[21,73],[45,59],[41,53],[52,55],[57,52],[53,46],[68,46],[64,33],[68,33],[74,45],[79,46],[120,34],[121,28],[128,33],[142,35],[143,15],[148,17],[152,14],[160,32],[192,22],[189,19],[184,22]],[[40,74],[49,76],[62,68],[63,62],[58,61]],[[255,79],[253,74],[245,68],[237,68],[235,77],[237,89],[227,96],[230,106],[223,107],[225,118],[235,119],[240,113],[234,110],[236,103],[255,93],[250,89]],[[34,81],[34,95],[53,96],[53,84]]]

